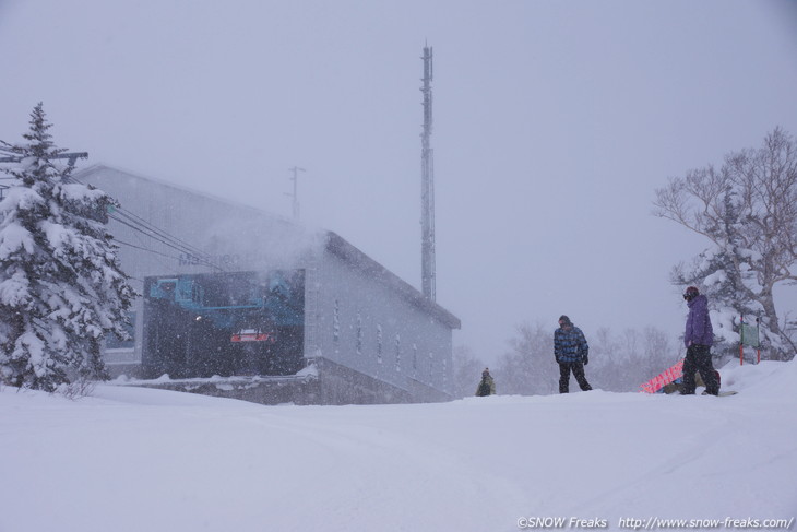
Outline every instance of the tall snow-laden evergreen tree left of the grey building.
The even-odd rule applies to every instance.
[[[0,381],[53,391],[106,377],[102,341],[127,336],[134,292],[106,230],[116,201],[59,164],[40,103],[29,123],[26,142],[2,142],[19,164],[0,201]]]

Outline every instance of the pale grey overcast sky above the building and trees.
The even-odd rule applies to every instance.
[[[568,314],[675,345],[668,274],[706,243],[654,190],[797,134],[795,1],[0,0],[0,139],[41,101],[90,164],[285,216],[300,166],[302,221],[419,287],[427,43],[455,343],[492,360]]]

